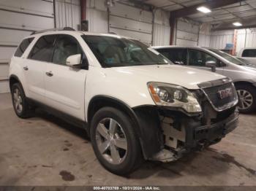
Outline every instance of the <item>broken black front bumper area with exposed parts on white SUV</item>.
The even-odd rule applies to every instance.
[[[218,122],[202,125],[200,114],[189,116],[166,107],[142,106],[136,108],[135,114],[140,127],[140,144],[145,159],[154,158],[154,160],[163,161],[167,158],[173,158],[166,155],[166,152],[162,152],[163,149],[169,150],[174,154],[174,157],[178,158],[184,152],[217,143],[238,126],[238,112],[235,110],[236,108],[233,108],[227,114],[221,114],[222,117],[218,117]],[[164,122],[163,124],[165,117],[172,119],[173,122]],[[164,128],[163,125],[167,126]],[[165,133],[165,130],[168,132]],[[173,133],[173,130],[176,133]],[[181,132],[182,136],[175,136],[177,132]],[[167,144],[167,140],[171,139],[177,140],[175,147],[173,147],[174,144]],[[165,157],[162,159],[160,156]]]

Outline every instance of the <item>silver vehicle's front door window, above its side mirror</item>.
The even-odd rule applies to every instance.
[[[217,58],[200,50],[189,50],[190,66],[206,66],[207,61],[214,61],[217,63]]]

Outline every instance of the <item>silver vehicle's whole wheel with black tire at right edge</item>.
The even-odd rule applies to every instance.
[[[236,85],[236,91],[239,97],[238,110],[247,114],[256,109],[256,88],[252,85]]]

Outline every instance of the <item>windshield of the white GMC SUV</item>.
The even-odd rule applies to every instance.
[[[156,50],[134,39],[83,35],[102,67],[168,64]]]

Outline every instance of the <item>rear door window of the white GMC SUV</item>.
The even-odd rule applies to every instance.
[[[53,57],[53,46],[56,35],[42,36],[34,45],[29,58],[37,61],[50,62]]]

